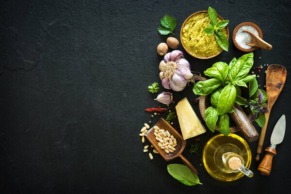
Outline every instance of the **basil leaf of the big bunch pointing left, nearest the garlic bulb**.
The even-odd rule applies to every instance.
[[[221,85],[222,82],[215,78],[206,81],[198,81],[193,87],[193,92],[195,95],[206,96]]]

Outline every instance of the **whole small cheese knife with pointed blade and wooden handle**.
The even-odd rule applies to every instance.
[[[269,147],[265,149],[266,154],[263,160],[259,164],[258,171],[261,175],[264,175],[264,176],[270,175],[271,169],[272,169],[273,157],[277,154],[276,145],[282,143],[284,139],[285,128],[286,128],[286,119],[285,119],[285,114],[283,114],[275,125],[275,128],[271,135],[271,144]]]

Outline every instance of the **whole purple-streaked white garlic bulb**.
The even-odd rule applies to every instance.
[[[184,59],[183,53],[179,50],[168,52],[161,61],[159,69],[163,72],[162,86],[174,91],[182,91],[193,77],[189,62]]]

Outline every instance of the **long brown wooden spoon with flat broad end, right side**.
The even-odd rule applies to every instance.
[[[256,161],[259,161],[259,155],[262,152],[262,146],[263,146],[264,139],[265,139],[265,134],[266,134],[266,129],[267,129],[271,109],[272,109],[277,97],[279,96],[279,94],[281,93],[281,91],[284,87],[286,76],[287,76],[287,70],[282,65],[270,65],[267,69],[266,91],[267,91],[267,95],[268,95],[269,113],[265,113],[266,123],[260,132]]]

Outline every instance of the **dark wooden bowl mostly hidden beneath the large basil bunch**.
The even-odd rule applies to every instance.
[[[199,98],[199,111],[200,111],[200,114],[203,118],[204,121],[205,120],[205,110],[211,106],[211,102],[210,102],[210,95],[207,95],[207,96],[200,96]],[[246,109],[243,110],[247,117],[249,119],[251,119],[253,117],[252,113],[250,111],[247,111]],[[229,120],[229,128],[230,128],[230,132],[231,133],[234,133],[234,132],[237,132],[237,131],[241,131],[241,128],[238,127],[232,119]],[[218,125],[215,126],[215,130],[218,130]]]

